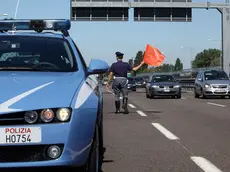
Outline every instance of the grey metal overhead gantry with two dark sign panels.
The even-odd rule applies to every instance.
[[[192,2],[192,0],[72,0],[70,18],[77,21],[192,22],[192,9],[217,9],[221,13],[221,68],[230,74],[230,4]]]

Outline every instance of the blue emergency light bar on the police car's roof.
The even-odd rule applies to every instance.
[[[14,27],[15,29],[14,29]],[[58,20],[0,20],[0,31],[4,30],[70,30],[71,22],[69,19]]]

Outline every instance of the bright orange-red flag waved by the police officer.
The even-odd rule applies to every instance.
[[[144,61],[149,66],[160,66],[164,62],[165,56],[155,47],[147,44]]]

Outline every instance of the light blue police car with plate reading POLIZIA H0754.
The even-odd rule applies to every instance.
[[[98,171],[103,99],[68,34],[69,20],[0,21],[0,168],[79,167]],[[80,170],[79,169],[79,170]]]

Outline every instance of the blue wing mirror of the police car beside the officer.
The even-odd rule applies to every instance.
[[[104,60],[92,59],[88,67],[88,75],[102,74],[109,70],[109,65]]]

